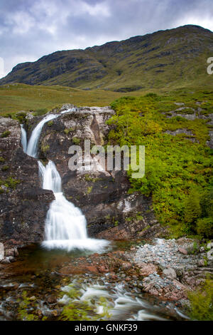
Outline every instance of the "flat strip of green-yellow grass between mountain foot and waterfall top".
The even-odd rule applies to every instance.
[[[12,84],[0,86],[0,115],[13,115],[21,110],[34,111],[39,115],[65,103],[104,106],[124,95],[126,94],[102,90],[84,91],[62,86]]]

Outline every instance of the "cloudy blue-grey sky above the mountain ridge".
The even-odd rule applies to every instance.
[[[13,66],[196,24],[213,31],[212,0],[0,0],[0,78]]]

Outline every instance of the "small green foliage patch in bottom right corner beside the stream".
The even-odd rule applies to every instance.
[[[189,292],[190,316],[197,321],[212,321],[213,319],[213,280],[207,279],[195,292]]]

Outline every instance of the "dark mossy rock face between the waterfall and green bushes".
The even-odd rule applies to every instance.
[[[40,158],[53,160],[62,177],[65,197],[80,207],[87,218],[89,236],[106,239],[131,239],[158,234],[151,198],[129,195],[131,187],[124,171],[70,171],[71,145],[84,140],[93,145],[107,143],[106,120],[114,113],[110,108],[77,108],[47,123],[40,135]],[[77,141],[77,142],[76,142]],[[84,150],[83,150],[84,151]]]

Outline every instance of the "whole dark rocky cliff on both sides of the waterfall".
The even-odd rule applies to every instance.
[[[109,107],[75,108],[73,105],[64,105],[61,111],[58,118],[43,127],[39,158],[44,164],[53,160],[57,165],[62,190],[67,200],[84,213],[89,236],[104,239],[158,236],[162,228],[155,220],[151,197],[129,195],[131,185],[126,172],[104,170],[94,155],[91,171],[69,168],[71,145],[80,145],[84,153],[84,140],[90,140],[92,146],[107,143],[110,128],[106,121],[114,111]],[[28,138],[40,118],[28,117],[25,125]],[[0,130],[0,241],[8,249],[43,240],[45,217],[54,195],[40,187],[37,160],[23,153],[18,121],[1,118]],[[82,163],[87,165],[84,157]]]

